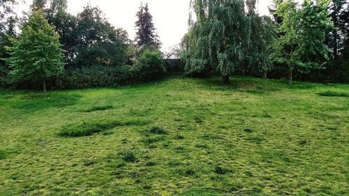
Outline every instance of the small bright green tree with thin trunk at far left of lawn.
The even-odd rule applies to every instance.
[[[10,38],[13,46],[6,47],[10,53],[6,61],[13,69],[10,75],[21,82],[41,81],[46,92],[46,80],[64,68],[59,35],[40,10],[34,11],[20,29],[22,33],[18,38]]]

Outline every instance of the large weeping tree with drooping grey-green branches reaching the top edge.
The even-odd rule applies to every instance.
[[[223,83],[229,84],[232,73],[246,70],[256,59],[262,59],[255,54],[265,48],[252,50],[255,42],[263,46],[260,42],[265,40],[259,35],[251,39],[253,30],[264,25],[255,13],[255,3],[256,0],[191,0],[190,29],[184,36],[182,56],[189,73],[220,73]]]

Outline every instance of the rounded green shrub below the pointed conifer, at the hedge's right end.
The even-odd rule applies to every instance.
[[[163,57],[156,50],[144,50],[138,56],[134,68],[138,74],[138,80],[142,82],[159,80],[166,74]]]

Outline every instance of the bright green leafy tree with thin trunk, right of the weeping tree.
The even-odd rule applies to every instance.
[[[304,1],[301,8],[295,1],[284,1],[276,10],[283,21],[279,38],[271,55],[276,63],[284,64],[290,71],[290,84],[294,70],[321,68],[328,60],[325,32],[331,28],[327,6],[329,1]]]

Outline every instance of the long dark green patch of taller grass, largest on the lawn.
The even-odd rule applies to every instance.
[[[94,121],[81,124],[71,124],[61,128],[58,135],[62,137],[83,137],[94,135],[105,130],[116,128],[118,126],[143,126],[144,121]]]

